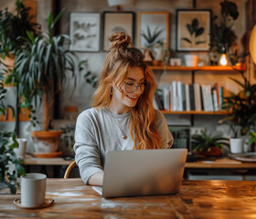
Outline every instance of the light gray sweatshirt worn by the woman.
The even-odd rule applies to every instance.
[[[80,177],[85,184],[91,175],[103,171],[107,151],[133,150],[128,125],[130,117],[131,112],[115,114],[107,109],[95,108],[80,113],[76,123],[74,151]],[[173,136],[159,110],[156,110],[156,120],[161,135],[161,147],[170,148],[173,145]],[[127,139],[123,139],[123,133]]]

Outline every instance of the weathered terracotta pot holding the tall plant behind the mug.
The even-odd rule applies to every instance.
[[[31,137],[36,152],[56,152],[59,147],[61,130],[34,130],[31,131]]]

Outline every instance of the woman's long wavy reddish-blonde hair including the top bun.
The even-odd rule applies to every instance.
[[[161,140],[156,125],[156,112],[153,107],[153,99],[156,89],[153,72],[147,67],[143,60],[143,53],[133,47],[130,36],[123,32],[110,36],[111,47],[107,51],[104,66],[98,88],[92,99],[92,107],[108,107],[112,99],[112,81],[117,81],[116,86],[124,92],[121,87],[127,76],[128,70],[133,67],[144,70],[144,78],[147,86],[133,107],[129,121],[130,132],[133,139],[133,150],[159,149]]]

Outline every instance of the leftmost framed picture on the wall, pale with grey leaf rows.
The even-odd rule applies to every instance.
[[[70,13],[71,51],[99,52],[101,49],[101,14]]]

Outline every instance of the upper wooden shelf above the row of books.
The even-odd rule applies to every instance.
[[[163,66],[152,66],[150,67],[152,70],[164,70]],[[221,67],[221,66],[204,66],[204,67],[172,67],[167,66],[165,68],[166,70],[170,71],[188,71],[188,70],[197,70],[197,71],[232,71],[232,70],[238,70],[238,71],[245,71],[246,66],[227,66],[227,67]]]

